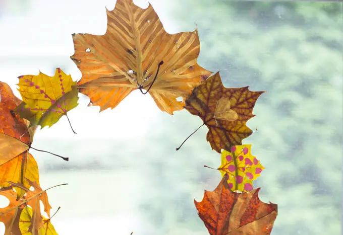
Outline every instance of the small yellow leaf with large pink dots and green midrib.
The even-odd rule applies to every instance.
[[[251,154],[251,144],[236,145],[231,152],[223,150],[218,170],[227,178],[228,187],[241,192],[253,190],[253,180],[265,169]]]

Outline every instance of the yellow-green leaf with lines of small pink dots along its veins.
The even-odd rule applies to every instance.
[[[52,77],[42,72],[20,76],[18,85],[23,102],[14,112],[29,120],[30,126],[50,127],[78,105],[76,82],[60,68]]]

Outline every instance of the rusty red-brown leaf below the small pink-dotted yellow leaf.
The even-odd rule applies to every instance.
[[[277,205],[260,201],[259,190],[232,192],[223,177],[214,191],[205,190],[203,200],[194,203],[211,235],[267,235],[273,228]]]

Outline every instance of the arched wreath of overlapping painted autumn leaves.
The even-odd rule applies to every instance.
[[[208,127],[207,141],[221,154],[217,170],[222,180],[214,191],[205,190],[201,202],[194,202],[209,233],[270,234],[277,205],[258,198],[260,189],[254,189],[253,180],[264,167],[251,144],[242,144],[253,133],[246,122],[254,117],[253,107],[263,92],[225,88],[219,72],[212,74],[197,64],[197,30],[168,34],[151,5],[141,9],[132,0],[117,0],[115,9],[106,13],[104,35],[72,35],[71,59],[82,72],[80,81],[60,68],[51,77],[41,72],[19,76],[22,100],[0,82],[0,195],[10,201],[0,208],[5,234],[57,234],[47,190],[39,186],[38,166],[29,153],[30,148],[46,151],[32,146],[37,126],[51,126],[67,116],[78,105],[78,93],[102,111],[115,108],[136,89],[149,93],[160,110],[173,115],[185,108]]]

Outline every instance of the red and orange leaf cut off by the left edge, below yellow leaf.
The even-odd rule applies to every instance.
[[[39,182],[37,163],[27,151],[35,128],[28,129],[25,120],[12,112],[20,100],[2,82],[0,99],[0,187],[9,186],[8,181],[20,182],[29,187],[25,178]],[[18,198],[24,193],[17,189]]]

